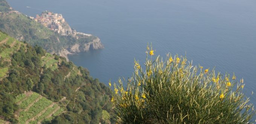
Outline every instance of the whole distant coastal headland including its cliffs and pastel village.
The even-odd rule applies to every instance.
[[[0,11],[0,30],[20,41],[43,47],[47,52],[58,54],[67,60],[68,54],[104,48],[98,37],[72,29],[62,14],[45,11],[34,18],[12,8]]]

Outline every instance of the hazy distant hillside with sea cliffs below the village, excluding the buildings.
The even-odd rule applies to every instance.
[[[9,8],[5,0],[0,1],[0,30],[19,41],[27,41],[32,46],[39,45],[47,52],[56,53],[66,59],[70,53],[104,48],[96,36],[85,35],[78,38],[73,35],[62,35]],[[66,22],[65,25],[68,26]]]

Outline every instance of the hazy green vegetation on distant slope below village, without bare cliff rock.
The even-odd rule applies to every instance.
[[[62,36],[23,14],[8,13],[9,9],[3,11],[1,8],[9,8],[5,0],[0,1],[0,30],[20,41],[27,41],[32,46],[41,46],[49,53],[59,53],[63,48],[67,49],[74,44],[84,44],[96,39],[95,36],[79,39]]]

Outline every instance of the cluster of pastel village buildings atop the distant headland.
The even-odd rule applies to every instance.
[[[69,24],[67,24],[63,18],[62,14],[45,11],[41,15],[36,15],[36,18],[30,18],[37,21],[38,23],[41,23],[43,26],[48,27],[50,30],[58,32],[61,35],[72,35],[76,38],[92,36],[91,34],[76,32],[76,30],[72,30]]]

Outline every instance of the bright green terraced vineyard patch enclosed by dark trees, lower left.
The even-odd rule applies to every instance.
[[[16,103],[20,108],[16,112],[20,124],[38,124],[64,112],[58,103],[53,103],[35,92],[18,95]]]

